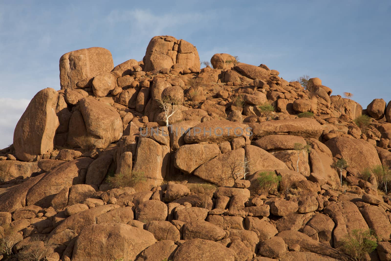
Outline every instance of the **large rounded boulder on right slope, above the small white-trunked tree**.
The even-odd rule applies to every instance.
[[[381,165],[375,147],[365,140],[335,137],[325,144],[333,156],[341,155],[350,167],[362,170],[368,166]]]

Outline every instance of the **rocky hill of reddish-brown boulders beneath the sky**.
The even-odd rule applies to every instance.
[[[210,63],[172,36],[61,56],[0,151],[0,260],[350,260],[366,231],[391,260],[391,103]]]

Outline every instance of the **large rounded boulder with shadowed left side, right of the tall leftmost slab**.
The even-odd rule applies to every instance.
[[[79,104],[82,117],[79,117],[78,122],[81,126],[85,125],[86,133],[76,133],[73,139],[68,135],[69,144],[88,147],[88,150],[105,149],[111,142],[120,139],[123,133],[122,120],[115,108],[92,97],[83,98]],[[71,134],[78,130],[71,129],[70,126],[69,131]]]

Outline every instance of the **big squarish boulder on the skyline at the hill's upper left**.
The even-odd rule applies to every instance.
[[[60,85],[75,89],[76,83],[113,69],[111,52],[101,47],[80,49],[63,54],[60,58]]]

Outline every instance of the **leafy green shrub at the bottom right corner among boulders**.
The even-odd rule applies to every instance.
[[[364,261],[365,255],[377,247],[377,239],[373,230],[355,229],[346,235],[343,241],[344,252],[355,261]]]

